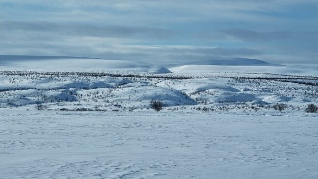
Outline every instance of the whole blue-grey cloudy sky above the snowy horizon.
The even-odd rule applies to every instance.
[[[0,0],[0,54],[318,64],[317,0]]]

